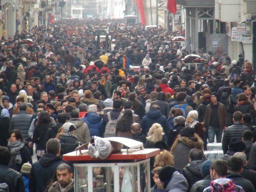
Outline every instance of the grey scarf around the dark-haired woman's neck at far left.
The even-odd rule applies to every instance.
[[[25,143],[21,140],[17,140],[15,142],[10,142],[8,141],[8,147],[11,150],[11,160],[10,164],[16,163],[16,164],[21,164],[21,155],[20,155],[20,150],[24,147]],[[13,166],[11,166],[13,167]]]

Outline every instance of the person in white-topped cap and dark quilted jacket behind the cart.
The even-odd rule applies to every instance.
[[[74,110],[73,110],[74,111]],[[66,122],[63,124],[63,133],[60,136],[60,154],[70,153],[75,151],[80,144],[78,138],[75,136],[76,126],[71,122]]]

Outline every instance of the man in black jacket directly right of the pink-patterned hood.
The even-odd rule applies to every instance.
[[[241,175],[242,170],[243,170],[242,159],[236,156],[230,157],[230,159],[228,160],[228,174],[226,175],[226,177],[233,180],[233,182],[236,185],[241,186],[244,189],[244,191],[256,192],[252,183],[249,180],[244,179],[242,177]]]

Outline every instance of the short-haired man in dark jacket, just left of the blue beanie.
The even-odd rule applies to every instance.
[[[189,164],[182,169],[182,174],[188,181],[188,191],[192,185],[202,178],[201,167],[202,167],[202,151],[200,149],[193,148],[189,152]]]

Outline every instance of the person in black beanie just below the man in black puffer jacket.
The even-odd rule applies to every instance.
[[[246,150],[246,145],[239,138],[232,138],[228,146],[228,151],[221,157],[221,159],[225,161],[228,161],[230,157],[233,156],[236,152],[243,152]]]

